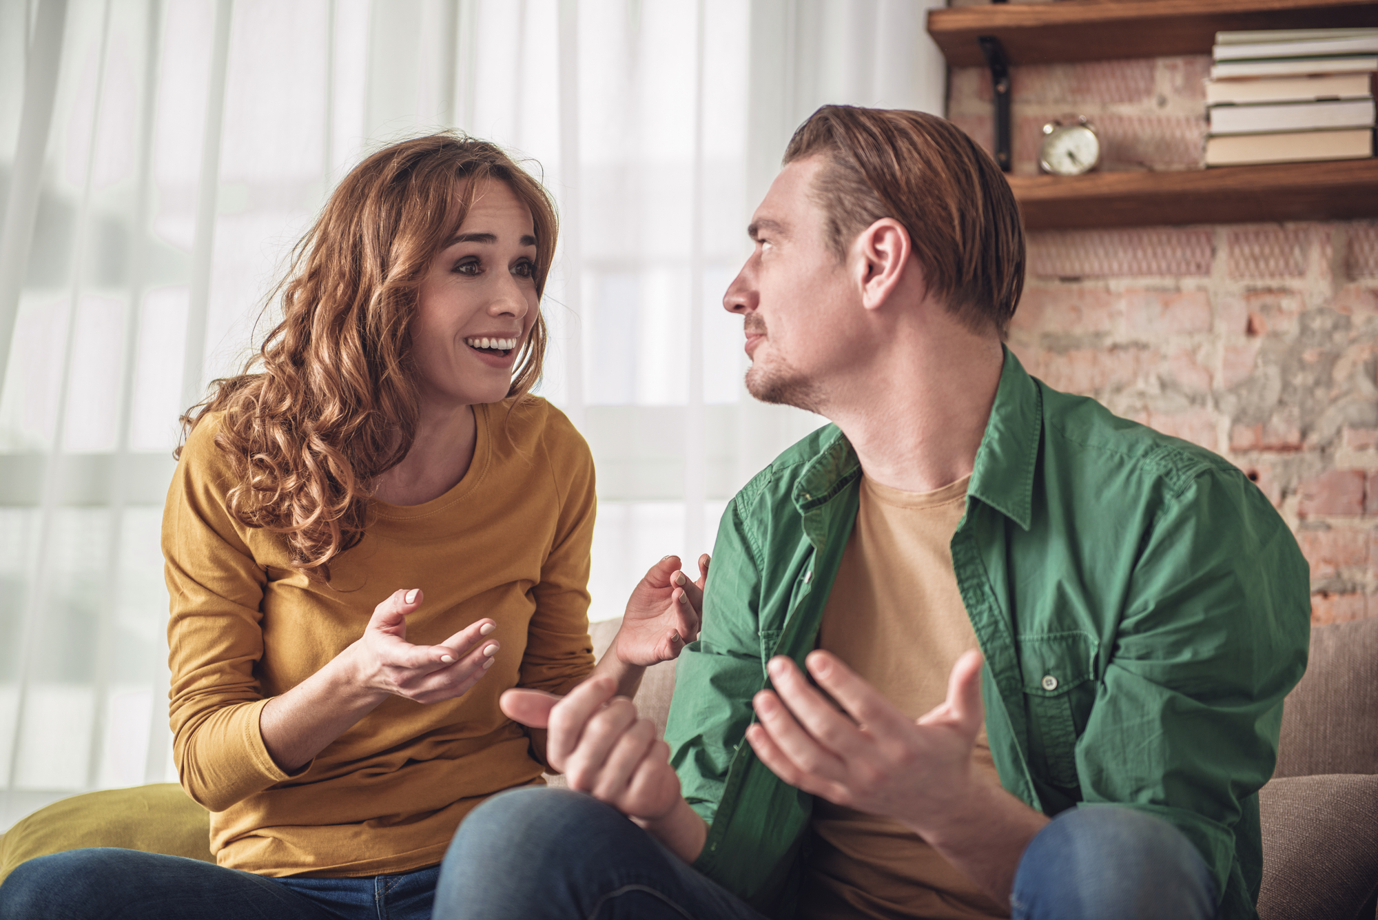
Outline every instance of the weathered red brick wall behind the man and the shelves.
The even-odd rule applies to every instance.
[[[1105,169],[1189,169],[1209,58],[1014,67],[1014,171],[1087,116]],[[984,69],[948,117],[991,143]],[[1310,562],[1312,620],[1378,616],[1378,220],[1035,231],[1010,346],[1050,386],[1244,470]]]

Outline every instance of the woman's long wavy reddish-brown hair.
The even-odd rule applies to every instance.
[[[542,185],[484,140],[404,140],[340,182],[269,297],[281,302],[282,321],[243,373],[212,381],[182,416],[185,439],[222,413],[215,443],[234,470],[230,514],[284,534],[292,567],[313,580],[328,583],[331,561],[364,539],[375,478],[412,446],[418,291],[485,180],[506,182],[531,209],[542,293],[557,234]],[[508,397],[540,379],[546,340],[537,315]]]

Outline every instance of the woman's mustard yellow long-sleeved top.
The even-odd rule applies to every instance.
[[[168,490],[174,755],[212,811],[222,866],[267,876],[365,876],[435,865],[485,796],[539,782],[542,752],[497,708],[514,686],[565,693],[594,667],[588,551],[594,467],[544,399],[474,406],[464,478],[419,505],[375,501],[333,583],[288,567],[285,541],[226,510],[219,419],[187,439]],[[389,697],[302,771],[274,764],[259,712],[358,639],[397,588],[422,588],[409,642],[434,645],[482,617],[496,664],[457,700]]]

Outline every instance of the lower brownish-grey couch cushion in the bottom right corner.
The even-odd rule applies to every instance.
[[[1264,825],[1261,920],[1353,920],[1378,890],[1378,775],[1273,780]]]

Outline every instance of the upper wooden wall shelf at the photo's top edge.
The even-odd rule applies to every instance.
[[[985,66],[977,36],[1010,63],[1210,54],[1236,29],[1378,26],[1374,0],[1058,0],[929,10],[929,34],[949,66]]]

